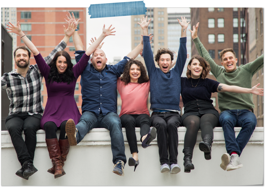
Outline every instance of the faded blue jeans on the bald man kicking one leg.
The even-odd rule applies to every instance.
[[[119,160],[126,164],[124,139],[121,129],[121,122],[119,116],[114,112],[109,112],[103,115],[100,112],[99,116],[94,112],[85,111],[76,125],[78,130],[77,143],[81,142],[85,135],[94,128],[105,128],[109,130],[111,138],[112,162],[117,163]]]

